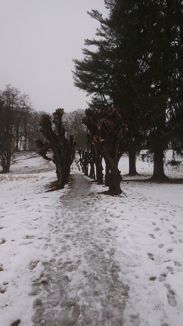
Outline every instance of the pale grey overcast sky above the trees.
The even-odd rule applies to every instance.
[[[94,8],[107,15],[103,0],[0,0],[0,89],[18,87],[38,111],[85,109],[71,69],[95,36]]]

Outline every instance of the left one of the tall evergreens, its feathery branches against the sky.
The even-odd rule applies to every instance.
[[[131,1],[130,1],[131,2]],[[105,109],[113,105],[128,125],[129,136],[135,141],[130,146],[129,174],[136,174],[136,153],[144,139],[144,113],[142,111],[141,82],[144,70],[139,65],[133,33],[129,37],[126,16],[130,13],[129,2],[105,1],[109,17],[93,10],[91,17],[100,22],[96,35],[99,39],[85,40],[85,44],[95,45],[96,52],[83,50],[85,58],[74,60],[74,85],[93,94],[91,108]],[[125,10],[124,10],[125,7]]]

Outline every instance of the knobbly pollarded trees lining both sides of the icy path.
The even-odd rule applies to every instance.
[[[63,188],[67,182],[70,166],[75,155],[74,135],[66,131],[64,125],[64,110],[57,109],[53,113],[53,121],[48,114],[41,117],[40,131],[46,137],[46,141],[38,139],[36,145],[39,154],[46,160],[52,160],[56,165],[58,178],[58,188]],[[82,124],[88,130],[88,140],[85,150],[79,150],[80,166],[85,175],[88,175],[88,165],[90,164],[89,176],[99,184],[103,184],[102,158],[106,163],[105,185],[109,186],[109,194],[120,194],[120,182],[122,180],[121,171],[118,169],[118,162],[134,139],[128,139],[128,129],[123,123],[119,112],[114,108],[104,110],[85,110]],[[47,156],[49,150],[53,151],[53,157]],[[79,161],[76,165],[79,168]],[[80,168],[79,168],[80,170]]]

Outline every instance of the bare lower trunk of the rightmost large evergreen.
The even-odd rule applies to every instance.
[[[164,174],[163,156],[164,156],[164,149],[163,148],[155,149],[155,151],[154,151],[154,171],[153,171],[153,175],[150,178],[150,180],[163,181],[163,180],[169,179]]]

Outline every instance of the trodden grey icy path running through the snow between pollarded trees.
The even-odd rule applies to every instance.
[[[72,179],[51,218],[50,241],[44,247],[52,246],[55,257],[43,262],[44,276],[33,284],[33,294],[39,293],[33,322],[122,325],[128,286],[113,258],[116,238],[107,228],[102,201],[91,193],[91,181],[79,172]]]

